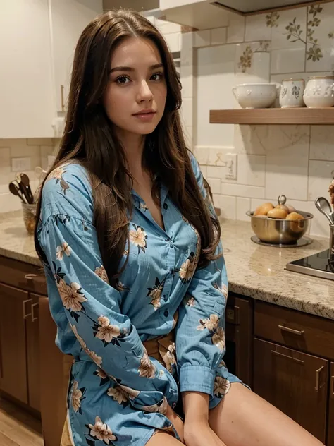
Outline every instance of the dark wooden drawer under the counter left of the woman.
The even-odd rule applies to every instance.
[[[47,280],[42,267],[0,255],[0,282],[11,287],[47,295]]]

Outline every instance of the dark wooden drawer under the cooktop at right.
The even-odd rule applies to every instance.
[[[300,351],[334,359],[334,321],[255,302],[254,333]]]

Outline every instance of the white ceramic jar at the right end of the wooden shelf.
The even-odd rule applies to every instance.
[[[334,76],[309,78],[304,91],[304,102],[309,108],[333,107]]]

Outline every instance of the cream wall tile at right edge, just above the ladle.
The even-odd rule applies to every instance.
[[[334,171],[333,161],[310,160],[308,200],[315,200],[318,196],[329,199],[328,188],[332,181],[332,171]]]

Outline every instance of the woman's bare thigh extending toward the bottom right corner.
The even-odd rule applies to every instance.
[[[210,411],[211,429],[228,446],[320,446],[307,430],[242,384]]]

